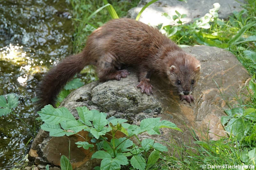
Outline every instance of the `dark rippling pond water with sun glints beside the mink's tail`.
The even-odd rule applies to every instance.
[[[48,68],[72,53],[68,0],[1,0],[0,95],[15,93],[16,115],[0,117],[0,169],[20,168],[39,129],[32,98]],[[21,168],[22,169],[22,168]]]

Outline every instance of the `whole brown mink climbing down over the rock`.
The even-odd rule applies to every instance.
[[[200,63],[184,52],[156,28],[129,18],[113,19],[92,32],[83,51],[63,59],[43,77],[36,97],[38,109],[55,99],[66,83],[84,66],[97,66],[100,81],[120,80],[129,75],[121,66],[132,66],[138,71],[142,93],[150,95],[154,72],[177,88],[180,99],[189,103],[199,78]]]

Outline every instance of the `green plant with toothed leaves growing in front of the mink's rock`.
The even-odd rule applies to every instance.
[[[120,169],[121,165],[129,166],[129,163],[135,169],[149,169],[154,166],[161,153],[167,152],[168,149],[153,139],[140,141],[138,135],[143,132],[147,132],[149,135],[160,135],[159,128],[180,130],[174,123],[160,121],[160,118],[144,119],[140,122],[140,126],[137,126],[125,123],[127,122],[125,119],[115,117],[106,119],[105,113],[88,110],[87,107],[77,107],[76,110],[80,117],[78,120],[65,107],[45,106],[37,112],[44,121],[41,129],[49,131],[50,136],[55,137],[70,136],[81,130],[90,132],[92,136],[90,141],[84,138],[83,142],[79,141],[76,144],[77,147],[84,149],[97,148],[98,151],[92,155],[92,158],[102,159],[100,169]],[[117,139],[115,137],[117,130],[123,132],[127,137]],[[107,133],[112,137],[110,142],[104,137]],[[129,139],[131,137],[136,137],[140,146],[135,145]],[[88,142],[94,143],[95,146]]]

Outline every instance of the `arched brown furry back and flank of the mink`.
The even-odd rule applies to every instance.
[[[108,21],[88,37],[87,46],[93,52],[113,53],[122,63],[132,65],[156,60],[156,54],[163,53],[166,46],[180,49],[156,28],[129,18]]]

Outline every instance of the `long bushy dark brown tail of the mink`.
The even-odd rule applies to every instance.
[[[85,51],[83,51],[77,55],[66,57],[48,71],[36,90],[37,111],[45,105],[55,105],[56,97],[62,88],[89,63],[89,61],[86,61],[85,55]]]

